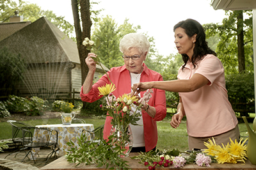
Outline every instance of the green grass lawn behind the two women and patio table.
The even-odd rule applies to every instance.
[[[255,115],[255,114],[254,114]],[[84,118],[86,123],[91,123],[94,128],[102,125],[105,122],[104,118]],[[60,124],[60,119],[50,119],[50,120],[28,120],[23,121],[29,125],[45,125],[45,124]],[[252,123],[249,123],[252,127]],[[166,116],[163,121],[157,122],[158,130],[158,143],[157,149],[159,150],[172,150],[177,148],[180,151],[188,150],[188,134],[186,129],[186,120],[182,120],[179,128],[172,128],[170,125],[170,116]],[[244,123],[239,123],[239,130],[246,131],[246,125]],[[241,133],[242,135],[242,133]],[[246,135],[243,132],[243,135]],[[12,139],[12,127],[7,122],[0,122],[0,139]]]

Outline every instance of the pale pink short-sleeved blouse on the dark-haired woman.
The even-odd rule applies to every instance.
[[[228,101],[223,65],[216,56],[208,54],[196,68],[187,63],[179,69],[178,79],[190,79],[194,73],[204,75],[209,84],[188,93],[179,93],[187,117],[188,135],[210,137],[236,127],[238,121]]]

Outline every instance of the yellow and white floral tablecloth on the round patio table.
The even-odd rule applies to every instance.
[[[78,141],[76,139],[76,137],[80,137],[82,131],[84,129],[87,130],[93,130],[93,124],[83,124],[83,123],[77,123],[77,124],[71,124],[71,125],[62,125],[62,124],[54,124],[54,125],[37,125],[36,127],[38,128],[51,128],[53,130],[57,130],[58,132],[58,145],[60,150],[57,152],[60,155],[65,155],[67,153],[67,150],[70,149],[70,147],[67,145],[67,142],[70,141],[70,139],[72,139],[72,141],[74,142],[74,144],[76,146],[78,146]],[[40,130],[40,129],[36,129],[33,135],[33,142],[44,142],[42,141],[42,139],[45,139],[45,137],[42,137],[45,134],[45,130]],[[87,135],[87,139],[91,140],[91,136],[88,132],[86,132]],[[52,136],[56,136],[54,134],[52,134]],[[54,141],[54,139],[52,139],[52,141]],[[56,141],[56,139],[55,139]],[[33,150],[33,153],[38,153],[40,150],[36,149]],[[35,157],[37,154],[34,154]]]

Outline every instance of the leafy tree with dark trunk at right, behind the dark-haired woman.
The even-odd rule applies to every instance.
[[[248,19],[243,19],[243,13]],[[204,25],[207,38],[220,37],[216,52],[226,74],[253,71],[252,11],[227,11],[226,15],[221,25]]]

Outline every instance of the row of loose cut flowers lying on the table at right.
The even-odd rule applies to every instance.
[[[246,139],[247,140],[247,139]],[[132,157],[140,160],[141,164],[148,166],[149,170],[156,167],[184,167],[185,164],[197,164],[198,166],[210,166],[211,162],[218,164],[236,164],[246,160],[246,140],[240,139],[232,141],[222,147],[215,143],[214,138],[209,139],[208,143],[204,143],[208,148],[203,151],[193,151],[192,153],[172,151],[150,151],[148,153],[140,153],[140,155]],[[243,142],[242,142],[243,141]]]

